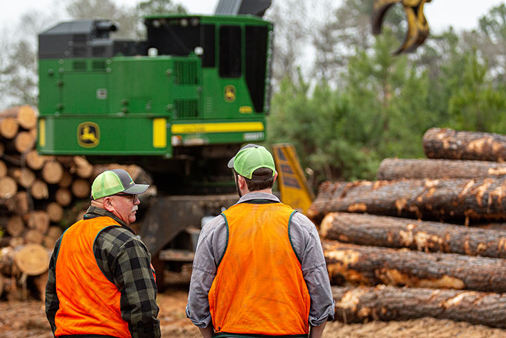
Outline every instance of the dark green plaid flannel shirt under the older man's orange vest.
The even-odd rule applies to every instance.
[[[150,253],[135,237],[134,230],[107,210],[89,207],[85,219],[107,216],[121,227],[105,228],[96,237],[94,255],[104,276],[121,290],[120,307],[123,320],[128,323],[132,338],[160,337],[160,322],[157,319],[157,285],[152,275]],[[63,236],[62,236],[63,237]],[[55,243],[49,262],[46,284],[46,316],[53,334],[56,330],[55,314],[60,306],[56,294],[55,266],[62,237]],[[86,335],[87,332],[82,332]]]

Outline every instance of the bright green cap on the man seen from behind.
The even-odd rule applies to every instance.
[[[274,166],[274,158],[264,146],[256,144],[247,144],[239,149],[236,155],[229,160],[227,167],[234,168],[237,174],[249,178],[250,180],[265,180],[274,177],[276,167]],[[259,168],[268,168],[272,170],[272,176],[253,175],[253,171]]]

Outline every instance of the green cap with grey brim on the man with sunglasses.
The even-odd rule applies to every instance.
[[[132,177],[126,170],[112,169],[106,170],[96,176],[91,185],[91,198],[98,199],[105,196],[118,194],[138,195],[143,194],[148,189],[147,184],[135,184]]]

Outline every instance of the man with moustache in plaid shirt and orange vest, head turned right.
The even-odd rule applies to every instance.
[[[150,253],[129,227],[148,187],[123,169],[95,178],[91,206],[49,263],[46,316],[55,337],[160,337]]]

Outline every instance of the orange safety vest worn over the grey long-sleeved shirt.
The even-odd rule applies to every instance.
[[[294,212],[282,203],[223,212],[228,243],[209,290],[216,337],[307,337],[311,298],[288,235]]]

